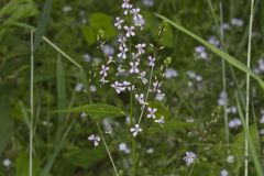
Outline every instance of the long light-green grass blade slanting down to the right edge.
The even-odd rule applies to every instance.
[[[249,74],[252,78],[254,78],[255,80],[258,81],[258,84],[261,85],[261,87],[264,90],[264,81],[262,80],[262,78],[260,76],[257,76],[254,72],[252,72],[251,69],[249,69],[243,63],[241,63],[239,59],[230,56],[229,54],[224,53],[223,51],[219,50],[218,47],[216,47],[215,45],[210,44],[209,42],[207,42],[206,40],[199,37],[198,35],[196,35],[195,33],[188,31],[187,29],[183,28],[182,25],[173,22],[172,20],[161,15],[161,14],[156,14],[156,16],[158,16],[160,19],[164,20],[165,22],[169,23],[172,26],[174,26],[175,29],[182,31],[183,33],[185,33],[186,35],[189,35],[190,37],[195,38],[196,41],[200,42],[201,44],[204,44],[206,47],[208,47],[209,50],[211,50],[215,54],[219,55],[221,58],[223,58],[224,61],[227,61],[229,64],[231,64],[232,66],[237,67],[238,69],[240,69],[241,72]]]

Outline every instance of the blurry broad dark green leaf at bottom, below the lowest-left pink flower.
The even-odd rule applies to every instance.
[[[103,145],[90,150],[72,151],[65,154],[65,160],[68,163],[85,168],[92,166],[105,157],[107,157],[107,152]]]

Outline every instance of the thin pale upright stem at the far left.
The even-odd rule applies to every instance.
[[[31,118],[30,118],[30,164],[29,175],[33,173],[33,114],[34,114],[34,32],[31,31]]]

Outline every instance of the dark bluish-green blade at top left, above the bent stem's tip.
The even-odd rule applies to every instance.
[[[53,7],[53,0],[46,0],[36,26],[36,33],[34,38],[34,51],[40,46],[42,37],[44,36],[46,25],[50,20],[50,14],[52,12],[52,7]]]

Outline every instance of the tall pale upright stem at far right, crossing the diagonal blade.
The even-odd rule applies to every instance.
[[[251,14],[250,14],[250,30],[249,30],[249,44],[248,44],[248,68],[251,67],[251,41],[252,41],[252,25],[253,25],[253,12],[254,11],[254,0],[251,0]],[[246,99],[245,99],[245,125],[249,129],[250,122],[250,75],[246,74]],[[244,176],[249,175],[249,140],[245,136],[245,151],[244,151],[245,160],[244,160]]]

